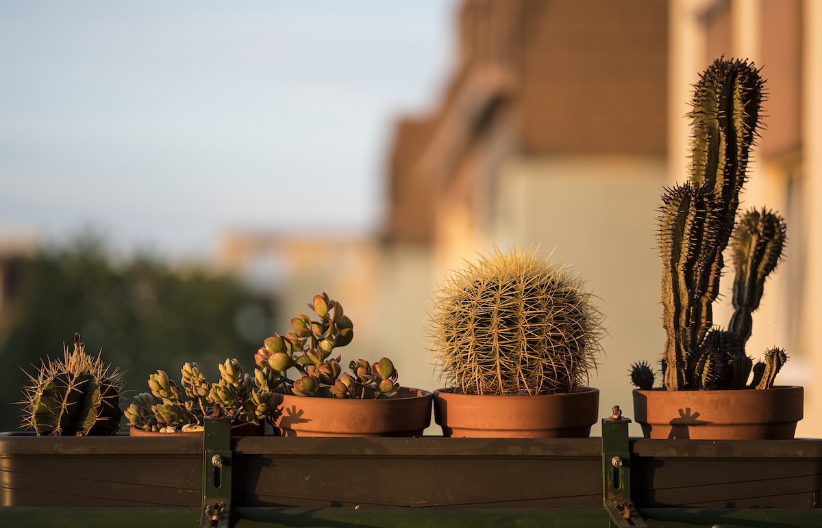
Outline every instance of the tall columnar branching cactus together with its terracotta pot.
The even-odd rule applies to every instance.
[[[785,351],[774,347],[756,365],[746,355],[751,314],[785,243],[783,219],[768,209],[737,221],[763,87],[752,63],[723,59],[695,85],[690,181],[665,191],[659,217],[667,390],[652,390],[647,363],[631,372],[635,419],[649,438],[793,438],[802,417],[802,388],[774,387]],[[734,312],[727,328],[715,328],[729,243]]]

